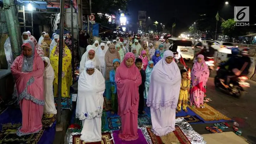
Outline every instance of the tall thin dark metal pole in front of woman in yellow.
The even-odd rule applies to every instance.
[[[60,48],[59,48],[59,68],[58,68],[58,105],[57,105],[57,125],[56,125],[56,131],[62,131],[63,130],[63,123],[60,122],[60,116],[61,116],[61,84],[62,84],[62,53],[63,53],[63,30],[64,30],[64,3],[65,3],[65,0],[60,0]]]

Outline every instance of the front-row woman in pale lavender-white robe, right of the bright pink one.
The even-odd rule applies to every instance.
[[[180,94],[180,69],[172,51],[165,51],[151,74],[147,105],[150,107],[152,131],[157,136],[175,130],[175,115]]]

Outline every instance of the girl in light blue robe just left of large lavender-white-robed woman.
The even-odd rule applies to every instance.
[[[150,76],[152,73],[154,67],[154,62],[152,60],[148,61],[148,66],[146,69],[146,81],[145,81],[145,90],[144,90],[144,99],[148,98],[148,88],[149,88],[149,83],[150,83]]]

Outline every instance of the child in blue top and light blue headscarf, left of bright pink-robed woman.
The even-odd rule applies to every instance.
[[[109,81],[111,83],[111,114],[117,114],[118,110],[118,103],[117,103],[117,93],[116,93],[116,82],[115,82],[115,74],[116,74],[116,68],[120,66],[120,60],[119,59],[114,59],[113,60],[113,68],[109,72]]]

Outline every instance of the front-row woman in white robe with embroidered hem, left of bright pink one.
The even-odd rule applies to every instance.
[[[101,141],[101,116],[105,79],[94,62],[85,62],[85,69],[78,79],[76,118],[82,120],[80,139],[85,142]]]

